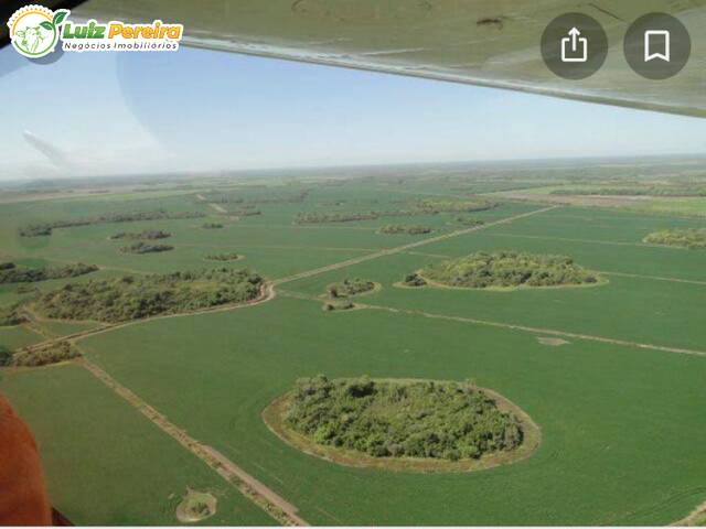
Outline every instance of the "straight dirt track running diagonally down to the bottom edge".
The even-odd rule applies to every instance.
[[[86,368],[105,386],[136,408],[160,430],[189,450],[189,452],[203,461],[226,482],[232,485],[239,484],[238,490],[277,521],[288,526],[309,525],[297,515],[297,507],[271,490],[264,483],[259,482],[256,477],[245,472],[214,447],[203,444],[189,435],[184,430],[167,419],[165,415],[108,375],[107,371],[87,360],[85,356],[77,359],[76,364]]]

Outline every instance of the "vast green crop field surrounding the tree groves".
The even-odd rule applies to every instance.
[[[216,515],[201,523],[274,525],[282,522],[277,508],[311,525],[683,519],[706,501],[706,250],[643,239],[704,222],[527,198],[552,185],[569,184],[505,173],[213,179],[188,192],[164,184],[1,204],[0,262],[99,267],[0,284],[0,307],[29,307],[24,322],[0,327],[0,345],[19,350],[63,337],[83,355],[0,368],[0,390],[38,439],[53,505],[74,523],[97,525],[178,523],[188,489],[217,498]],[[515,192],[525,196],[509,196]],[[489,199],[498,204],[468,213],[415,210],[425,201],[443,208]],[[97,222],[154,210],[199,216]],[[322,220],[298,224],[301,214]],[[49,236],[18,233],[87,218]],[[379,233],[386,225],[431,231]],[[169,233],[173,250],[124,253],[125,242],[110,239],[142,230]],[[503,291],[400,285],[442,260],[503,250],[568,256],[602,280]],[[242,258],[205,259],[221,252]],[[267,295],[126,325],[50,321],[31,310],[42,292],[67,283],[216,267],[256,271]],[[327,288],[353,278],[376,287],[352,298],[355,310],[322,310]],[[318,374],[472,380],[524,410],[542,441],[527,458],[475,472],[342,466],[285,443],[261,418],[297,379]],[[225,479],[224,468],[233,468]]]

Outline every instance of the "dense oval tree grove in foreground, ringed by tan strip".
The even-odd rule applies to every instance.
[[[518,419],[468,382],[304,378],[284,419],[318,444],[373,457],[457,461],[523,442]]]

